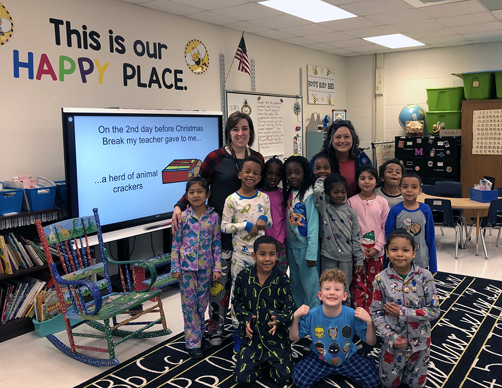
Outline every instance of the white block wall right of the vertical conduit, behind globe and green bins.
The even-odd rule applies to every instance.
[[[502,42],[385,54],[384,139],[403,136],[398,116],[408,104],[428,110],[426,88],[462,86],[451,73],[502,68]]]

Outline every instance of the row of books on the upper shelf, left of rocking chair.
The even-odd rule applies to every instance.
[[[39,244],[14,233],[0,234],[0,275],[12,275],[20,268],[43,266],[46,263]]]

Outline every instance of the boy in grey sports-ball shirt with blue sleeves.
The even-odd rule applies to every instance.
[[[422,193],[422,179],[416,173],[406,173],[401,178],[399,190],[404,201],[394,205],[389,211],[385,223],[385,238],[397,228],[407,229],[416,242],[417,255],[414,263],[435,274],[438,272],[438,266],[432,211],[429,205],[417,201],[417,197]]]

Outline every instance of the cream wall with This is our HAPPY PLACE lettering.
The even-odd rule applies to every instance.
[[[228,72],[240,40],[240,31],[230,30],[196,20],[155,11],[114,0],[4,0],[14,22],[14,34],[0,47],[0,82],[4,92],[2,104],[3,163],[0,180],[33,173],[52,180],[64,179],[61,107],[121,107],[153,109],[221,110],[219,54],[225,55]],[[56,44],[55,26],[49,19],[69,21],[72,29],[100,34],[100,50],[73,47],[66,44],[66,32],[61,27],[61,45]],[[126,53],[110,53],[108,30],[113,36],[123,37]],[[140,57],[133,51],[133,42],[160,42],[168,46],[162,59]],[[201,40],[209,53],[209,68],[203,74],[192,73],[185,62],[184,50],[192,39]],[[256,64],[256,90],[263,93],[296,95],[300,92],[299,69],[303,68],[303,94],[307,95],[306,65],[330,67],[335,70],[335,108],[345,108],[346,59],[333,54],[306,49],[257,35],[245,34],[249,57]],[[90,40],[89,40],[90,43]],[[115,45],[116,46],[116,45]],[[33,53],[34,79],[29,79],[26,68],[19,68],[14,76],[15,51],[19,61],[28,62]],[[43,54],[46,55],[43,56]],[[100,84],[96,69],[82,81],[78,63],[76,71],[60,77],[62,56],[78,62],[88,58],[101,66],[108,63]],[[52,66],[57,77],[45,74],[36,79],[41,58],[46,58],[42,69]],[[63,58],[64,60],[64,58]],[[140,66],[142,82],[155,67],[182,70],[180,85],[186,90],[159,89],[137,86],[137,79],[123,85],[123,63]],[[66,68],[70,62],[65,62]],[[84,68],[87,68],[84,64]],[[96,65],[94,65],[96,67]],[[168,81],[173,82],[173,74]],[[231,70],[226,88],[250,91],[250,78]],[[313,111],[329,111],[327,105],[303,104],[304,126]],[[288,151],[287,151],[288,152]],[[291,150],[292,153],[292,150]]]

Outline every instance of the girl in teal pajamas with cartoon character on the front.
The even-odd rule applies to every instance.
[[[319,214],[314,204],[314,190],[307,159],[291,156],[284,163],[283,187],[286,204],[286,238],[288,262],[296,307],[320,305],[317,297],[317,256],[319,248]]]

